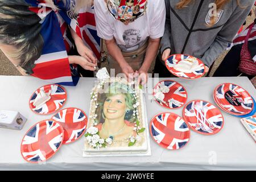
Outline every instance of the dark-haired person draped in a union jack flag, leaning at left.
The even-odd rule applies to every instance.
[[[77,65],[85,75],[93,75],[97,64],[93,52],[82,42],[77,26],[77,12],[90,8],[91,3],[0,0],[0,49],[22,75],[76,85]]]

